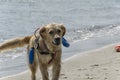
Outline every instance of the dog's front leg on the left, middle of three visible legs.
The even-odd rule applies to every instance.
[[[49,80],[47,64],[40,64],[40,71],[41,71],[43,80]]]

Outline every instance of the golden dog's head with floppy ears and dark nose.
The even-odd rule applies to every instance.
[[[62,24],[56,23],[43,26],[39,31],[39,34],[45,41],[47,41],[47,43],[55,46],[59,46],[61,44],[62,37],[65,33],[66,28]]]

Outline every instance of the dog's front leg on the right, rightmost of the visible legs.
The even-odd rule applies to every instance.
[[[52,80],[59,80],[60,69],[61,69],[60,61],[55,62],[52,68]]]

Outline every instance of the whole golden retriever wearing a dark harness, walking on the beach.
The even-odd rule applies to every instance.
[[[38,28],[32,36],[16,38],[0,44],[0,51],[27,45],[28,59],[33,49],[34,60],[29,64],[31,79],[36,80],[39,66],[42,80],[49,80],[48,68],[52,66],[52,80],[58,80],[61,69],[62,37],[66,28],[62,24],[52,23]]]

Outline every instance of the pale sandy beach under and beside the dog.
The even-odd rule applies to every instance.
[[[79,53],[64,60],[59,80],[120,80],[120,53],[114,50],[115,45]],[[30,80],[30,73],[25,71],[0,80]],[[39,72],[37,80],[41,80]]]

